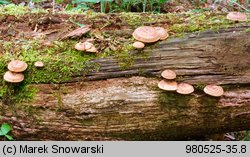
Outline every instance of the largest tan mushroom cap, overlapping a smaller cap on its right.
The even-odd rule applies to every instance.
[[[153,43],[160,39],[160,36],[156,32],[155,28],[151,26],[138,27],[132,35],[136,40],[144,43]]]

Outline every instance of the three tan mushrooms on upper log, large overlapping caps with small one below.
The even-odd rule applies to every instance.
[[[141,26],[134,30],[133,37],[138,40],[133,43],[137,49],[144,48],[144,43],[154,43],[158,40],[165,40],[169,37],[166,29],[162,27]]]

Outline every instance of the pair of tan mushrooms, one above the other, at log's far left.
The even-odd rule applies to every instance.
[[[11,83],[22,82],[24,80],[24,75],[22,72],[25,71],[27,67],[28,67],[27,63],[23,61],[20,60],[11,61],[8,64],[9,71],[7,71],[3,76],[4,80]]]

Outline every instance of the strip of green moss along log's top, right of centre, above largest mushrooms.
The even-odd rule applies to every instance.
[[[250,16],[250,15],[248,15]],[[175,36],[183,36],[184,33],[201,32],[205,30],[218,31],[220,28],[228,28],[233,25],[244,25],[248,22],[235,23],[226,19],[226,13],[211,13],[204,11],[200,13],[182,14],[136,14],[121,13],[120,16],[130,26],[150,25],[154,23],[165,23],[171,33]]]

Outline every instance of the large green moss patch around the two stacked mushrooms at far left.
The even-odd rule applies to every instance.
[[[75,51],[68,45],[74,41],[54,42],[51,47],[44,47],[37,41],[23,44],[3,42],[0,44],[0,75],[7,71],[7,63],[12,59],[20,59],[28,64],[24,72],[25,80],[21,84],[2,82],[0,98],[6,104],[19,102],[21,99],[29,100],[35,90],[27,87],[30,83],[60,83],[71,79],[72,75],[84,75],[90,71],[97,71],[99,66],[90,60],[95,54],[85,54]],[[11,45],[16,45],[15,47]],[[45,67],[37,69],[34,62],[43,61]]]

